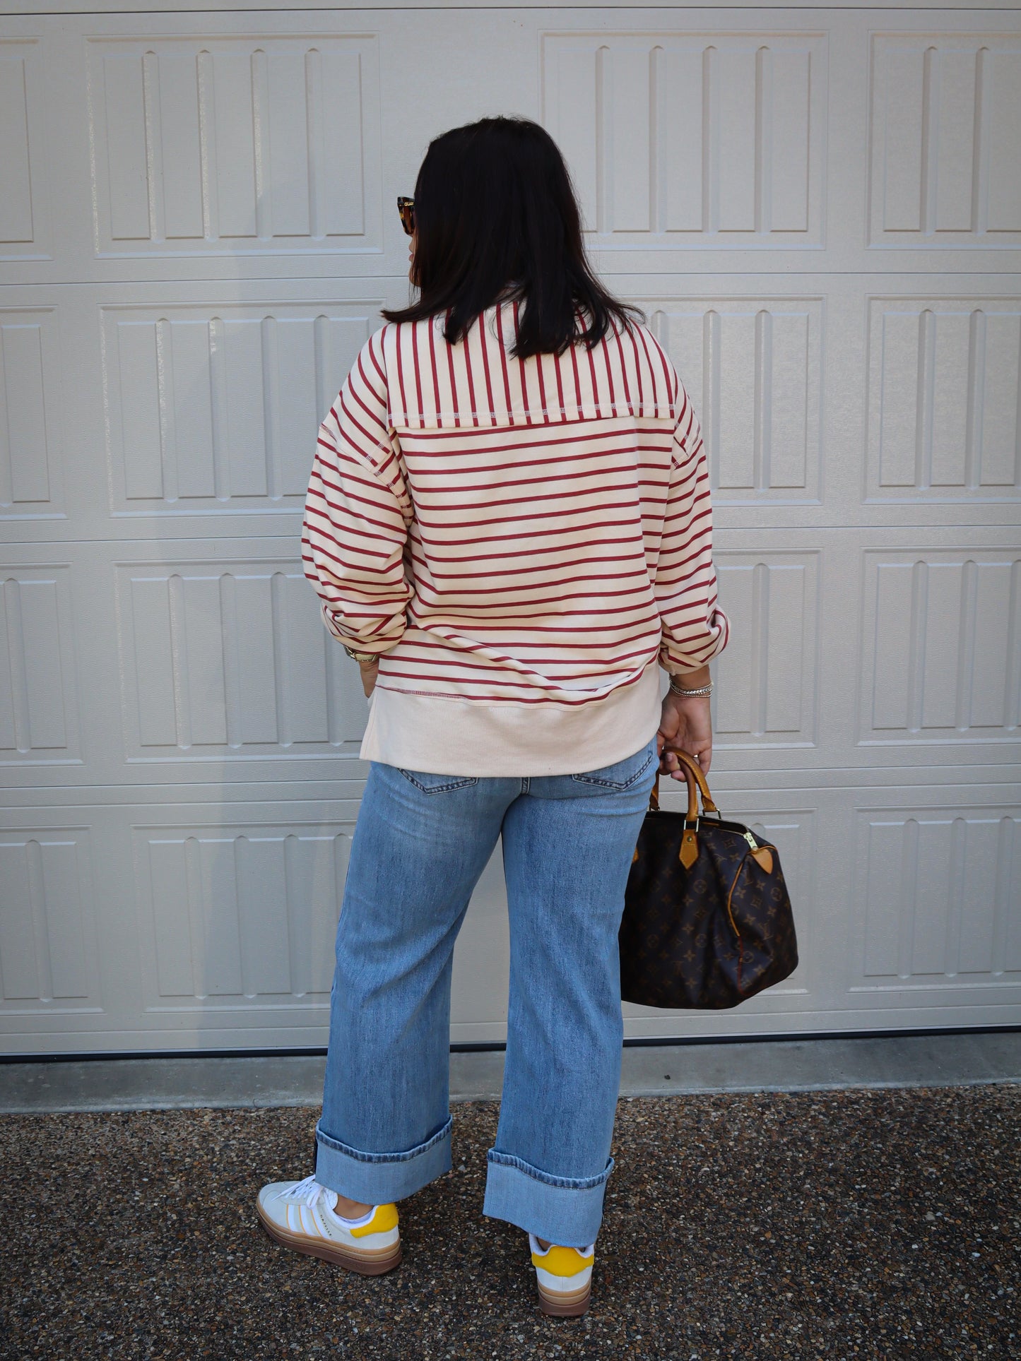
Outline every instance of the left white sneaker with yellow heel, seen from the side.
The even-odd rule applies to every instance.
[[[383,1275],[400,1263],[398,1207],[374,1204],[359,1219],[336,1214],[336,1192],[314,1176],[271,1181],[259,1192],[256,1210],[274,1241],[323,1258],[362,1275]]]

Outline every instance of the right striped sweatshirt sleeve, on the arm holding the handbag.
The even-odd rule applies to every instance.
[[[659,660],[671,674],[682,675],[723,652],[730,621],[716,604],[709,471],[702,433],[679,378],[677,385],[679,415],[655,588],[663,621]]]

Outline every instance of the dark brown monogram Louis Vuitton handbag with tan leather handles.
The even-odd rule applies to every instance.
[[[666,750],[685,773],[687,813],[660,808],[656,774],[623,898],[621,996],[647,1007],[735,1007],[798,966],[780,855],[720,817],[686,751]]]

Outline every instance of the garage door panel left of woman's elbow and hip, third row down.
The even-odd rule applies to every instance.
[[[128,764],[357,753],[357,671],[299,562],[121,563],[117,591]]]

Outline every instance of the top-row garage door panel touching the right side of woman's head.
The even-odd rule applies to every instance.
[[[574,173],[594,244],[821,244],[825,34],[542,41],[543,120]]]

